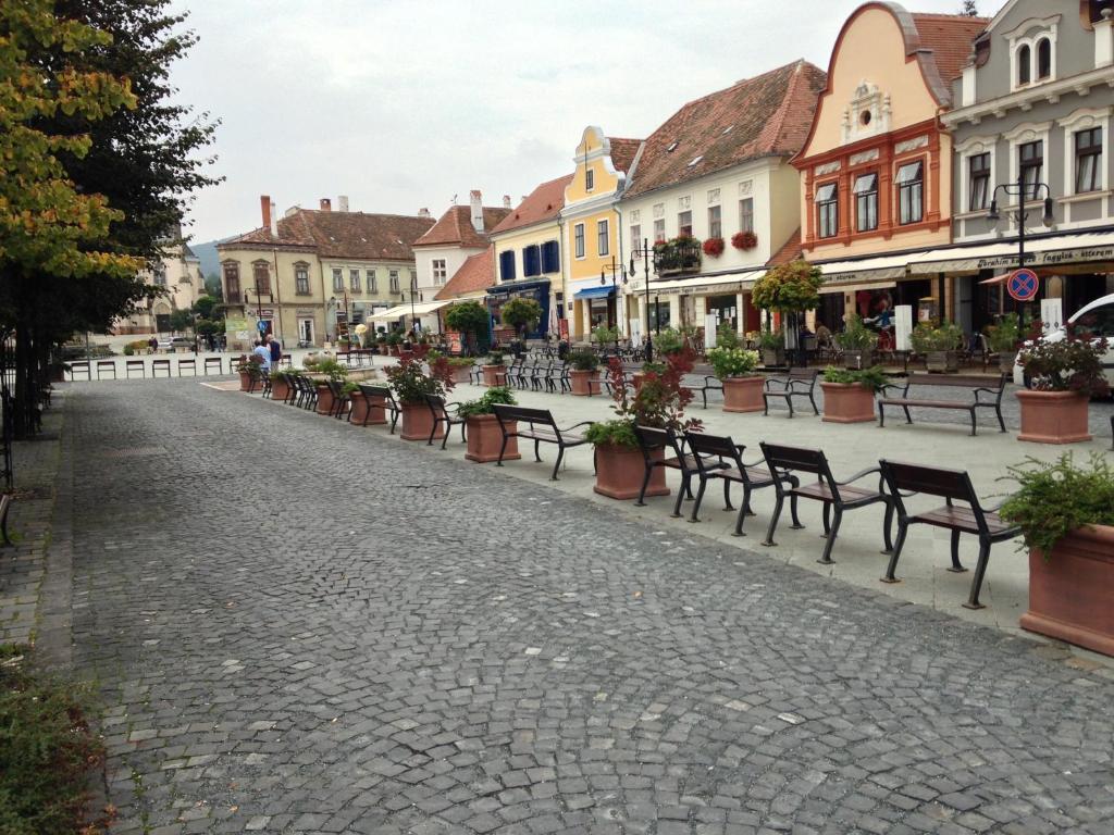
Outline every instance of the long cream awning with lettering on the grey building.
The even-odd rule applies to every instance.
[[[909,256],[909,272],[977,273],[1017,267],[1017,239],[951,246]],[[1025,239],[1025,266],[1114,262],[1114,232],[1076,232]]]

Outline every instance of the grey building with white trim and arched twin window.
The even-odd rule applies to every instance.
[[[1063,321],[1114,293],[1112,10],[1112,2],[1012,0],[952,84],[956,107],[942,120],[955,146],[955,247],[928,265],[956,277],[954,314],[968,331],[1015,308],[993,279],[1019,266],[1023,205],[1026,266],[1040,278],[1030,316]]]

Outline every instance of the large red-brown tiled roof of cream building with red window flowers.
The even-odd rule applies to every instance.
[[[625,196],[797,154],[825,80],[823,70],[799,60],[690,101],[646,139]]]

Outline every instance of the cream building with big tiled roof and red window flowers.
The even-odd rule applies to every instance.
[[[798,234],[801,149],[824,73],[795,61],[690,101],[645,141],[618,204],[629,250],[662,249],[648,294],[641,253],[625,293],[639,331],[703,327],[707,315],[740,333],[759,327],[755,277]],[[665,242],[692,238],[692,244]],[[655,274],[656,266],[656,274]]]

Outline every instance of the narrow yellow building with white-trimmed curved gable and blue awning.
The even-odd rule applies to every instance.
[[[588,338],[592,328],[599,325],[627,331],[617,305],[624,246],[615,205],[641,146],[638,139],[606,137],[600,128],[590,126],[576,147],[576,170],[565,187],[560,210],[567,265],[563,298],[573,340]],[[600,273],[605,275],[603,283]],[[612,283],[613,276],[618,287]]]

